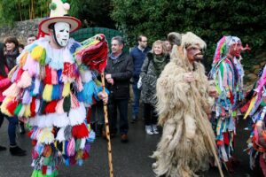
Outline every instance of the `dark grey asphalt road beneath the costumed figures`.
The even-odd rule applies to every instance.
[[[130,114],[129,114],[130,115]],[[243,150],[246,148],[246,138],[248,132],[244,128],[245,123],[240,121],[237,137],[237,155],[241,161],[235,174],[231,176],[249,177],[261,176],[249,170],[248,156]],[[112,139],[113,149],[113,172],[115,177],[153,177],[153,159],[149,158],[160,135],[145,135],[144,122],[139,120],[136,124],[130,124],[129,142],[121,143],[120,137]],[[18,142],[21,148],[27,150],[27,157],[12,157],[9,151],[0,152],[0,177],[28,177],[32,172],[30,140],[27,135],[18,135]],[[4,120],[3,127],[0,128],[0,144],[8,145],[7,121]],[[90,159],[82,166],[60,166],[59,177],[107,177],[108,161],[106,153],[106,141],[98,138],[91,147]],[[224,171],[225,176],[230,176]],[[202,176],[218,177],[217,169],[210,169]]]

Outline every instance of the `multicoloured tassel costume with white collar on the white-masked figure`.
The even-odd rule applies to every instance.
[[[1,111],[32,127],[33,177],[55,176],[61,161],[82,165],[89,158],[95,134],[85,104],[98,99],[99,90],[88,66],[74,57],[79,47],[70,39],[66,47],[53,49],[39,39],[27,46],[10,74],[12,86],[4,91]]]

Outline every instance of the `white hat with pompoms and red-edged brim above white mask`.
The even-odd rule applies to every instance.
[[[67,14],[70,5],[66,0],[52,0],[50,4],[50,17],[43,19],[39,25],[39,31],[45,35],[49,35],[49,26],[56,22],[66,22],[70,25],[70,33],[81,27],[82,22],[79,19],[71,17]]]

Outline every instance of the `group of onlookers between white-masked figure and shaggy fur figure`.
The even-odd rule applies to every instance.
[[[111,137],[120,130],[121,142],[128,142],[129,118],[131,123],[140,117],[145,120],[147,135],[159,134],[157,129],[156,81],[168,64],[171,44],[168,41],[157,40],[153,42],[152,49],[147,45],[145,35],[139,35],[137,45],[129,53],[123,51],[125,42],[121,36],[113,37],[111,41],[112,52],[106,66],[106,88],[110,91],[108,115],[110,120]],[[129,87],[132,83],[133,98],[132,116],[128,115]],[[143,114],[139,114],[140,100],[143,105]],[[120,115],[119,128],[117,127],[118,113]],[[98,121],[103,125],[103,121]],[[102,131],[102,126],[98,128]]]

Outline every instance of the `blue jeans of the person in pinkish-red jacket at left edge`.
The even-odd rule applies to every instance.
[[[9,142],[11,146],[17,145],[16,142],[16,126],[19,123],[18,118],[16,117],[5,117],[8,121],[8,136],[9,136]]]

